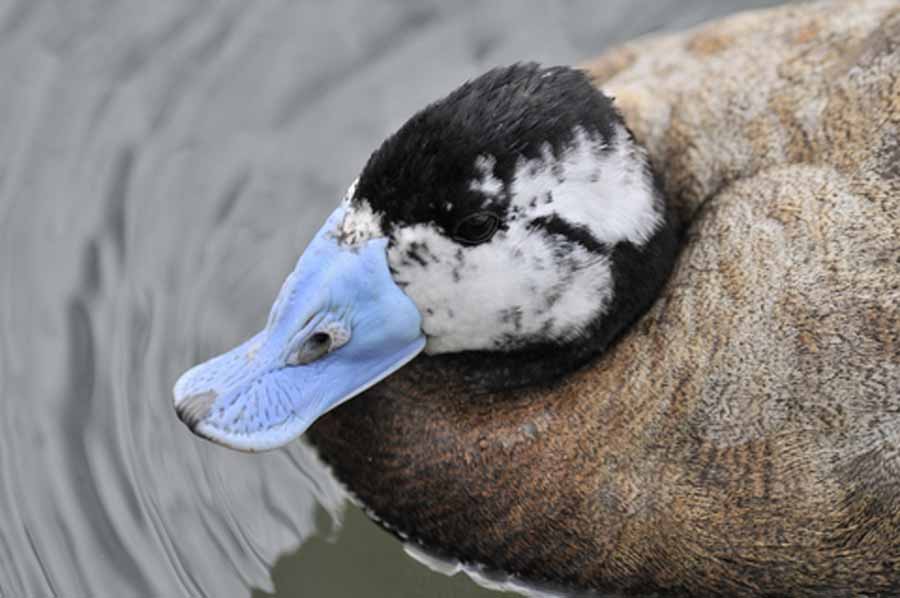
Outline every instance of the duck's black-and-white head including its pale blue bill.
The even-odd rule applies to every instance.
[[[421,352],[575,367],[649,305],[673,253],[612,101],[574,69],[495,69],[372,154],[266,327],[185,373],[175,408],[201,436],[265,450]]]

